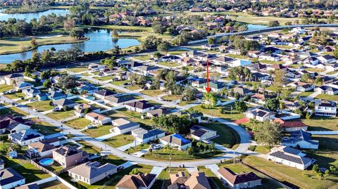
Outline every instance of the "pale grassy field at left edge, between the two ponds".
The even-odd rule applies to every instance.
[[[23,51],[29,51],[32,49],[30,44],[31,37],[12,37],[1,39],[0,44],[0,54],[8,53],[20,53]],[[72,44],[79,43],[83,40],[78,40],[69,36],[58,36],[58,37],[48,37],[48,38],[35,38],[37,45],[46,45],[46,44]]]

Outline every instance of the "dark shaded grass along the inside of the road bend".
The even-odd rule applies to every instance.
[[[202,124],[202,126],[206,126],[209,129],[217,131],[218,137],[214,138],[212,141],[218,143],[220,145],[225,146],[226,148],[232,148],[236,146],[240,142],[239,135],[234,129],[231,129],[229,126],[221,123],[210,123],[210,124]]]

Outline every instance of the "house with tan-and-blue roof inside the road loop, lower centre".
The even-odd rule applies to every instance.
[[[192,141],[189,141],[187,138],[184,138],[184,136],[178,133],[173,133],[160,138],[160,143],[163,145],[170,145],[178,150],[187,150],[187,148],[192,146]]]

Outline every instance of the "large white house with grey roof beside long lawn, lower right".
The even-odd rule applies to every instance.
[[[288,146],[271,149],[270,153],[268,153],[268,159],[301,170],[305,170],[315,162],[315,159],[306,157],[306,154],[301,152],[301,150],[296,150]]]

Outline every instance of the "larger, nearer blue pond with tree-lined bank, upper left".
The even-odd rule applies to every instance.
[[[94,51],[108,51],[114,46],[119,46],[120,48],[127,48],[129,46],[139,45],[137,39],[118,39],[113,40],[111,38],[110,30],[89,30],[84,34],[85,37],[90,39],[84,41],[83,43],[77,44],[54,44],[54,45],[43,45],[35,49],[38,53],[41,53],[44,50],[54,47],[56,50],[66,50],[68,48],[80,48],[84,52],[94,52]],[[0,56],[0,63],[11,63],[13,60],[26,60],[27,58],[32,57],[33,51],[25,51],[23,53],[12,53],[7,55]]]

